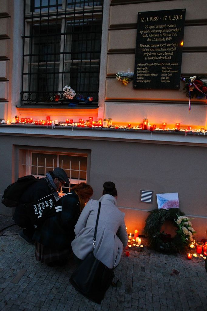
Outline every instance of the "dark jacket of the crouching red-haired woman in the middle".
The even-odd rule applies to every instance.
[[[71,242],[75,238],[74,226],[80,215],[79,198],[72,191],[57,203],[58,206],[62,206],[62,211],[47,218],[35,231],[33,239],[49,248],[70,249]]]

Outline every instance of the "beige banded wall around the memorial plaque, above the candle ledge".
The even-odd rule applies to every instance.
[[[137,3],[136,3],[137,2]],[[141,2],[141,3],[140,3]],[[124,4],[123,4],[124,3]],[[124,86],[115,79],[119,71],[134,71],[137,13],[186,8],[184,47],[181,73],[187,77],[202,75],[207,78],[207,7],[204,0],[176,1],[118,1],[111,0],[106,73],[105,116],[115,123],[142,123],[148,118],[151,124],[175,122],[192,128],[207,126],[206,99],[191,101],[180,90],[133,89],[133,82]],[[195,104],[193,104],[195,103]],[[179,120],[179,121],[177,121]]]

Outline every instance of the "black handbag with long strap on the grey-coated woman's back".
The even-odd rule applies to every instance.
[[[106,290],[111,285],[114,277],[114,269],[106,267],[100,260],[96,259],[93,254],[100,209],[101,202],[99,202],[98,207],[92,251],[79,264],[70,277],[70,283],[76,290],[98,304],[101,304],[101,300],[104,298]]]

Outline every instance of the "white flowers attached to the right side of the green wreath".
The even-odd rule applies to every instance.
[[[175,220],[175,222],[178,226],[177,234],[181,236],[182,241],[186,243],[192,241],[193,234],[195,234],[196,231],[192,228],[190,218],[186,216],[178,216],[178,219]]]

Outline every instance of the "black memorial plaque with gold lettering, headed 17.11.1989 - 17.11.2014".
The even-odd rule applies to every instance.
[[[185,12],[138,12],[135,89],[179,89]]]

